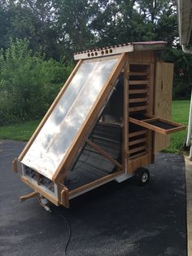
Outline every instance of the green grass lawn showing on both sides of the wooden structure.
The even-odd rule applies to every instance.
[[[190,100],[174,100],[172,102],[172,121],[188,125]],[[40,120],[24,121],[20,124],[0,127],[0,139],[27,141],[36,129]],[[186,136],[186,130],[170,135],[170,146],[164,152],[180,152]]]

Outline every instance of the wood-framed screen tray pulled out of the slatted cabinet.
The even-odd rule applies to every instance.
[[[145,127],[149,130],[155,130],[156,132],[163,135],[169,135],[173,132],[185,130],[185,126],[178,124],[177,122],[168,121],[164,118],[159,118],[155,116],[137,114],[130,116],[129,121],[133,122],[138,126]]]

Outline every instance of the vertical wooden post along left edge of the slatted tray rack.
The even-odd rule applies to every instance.
[[[123,166],[128,172],[129,160],[129,60],[124,64],[124,129],[123,129]]]

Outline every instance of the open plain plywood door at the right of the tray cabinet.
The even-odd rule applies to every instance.
[[[170,120],[172,116],[172,78],[173,64],[157,62],[155,72],[154,114]],[[169,136],[155,133],[155,152],[169,145]]]

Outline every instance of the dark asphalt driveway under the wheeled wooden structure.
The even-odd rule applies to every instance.
[[[12,172],[11,161],[24,143],[0,141],[0,255],[64,255],[68,228],[47,213]],[[185,162],[158,153],[149,166],[151,182],[111,182],[71,201],[69,210],[54,207],[68,219],[72,240],[68,255],[186,255]]]

